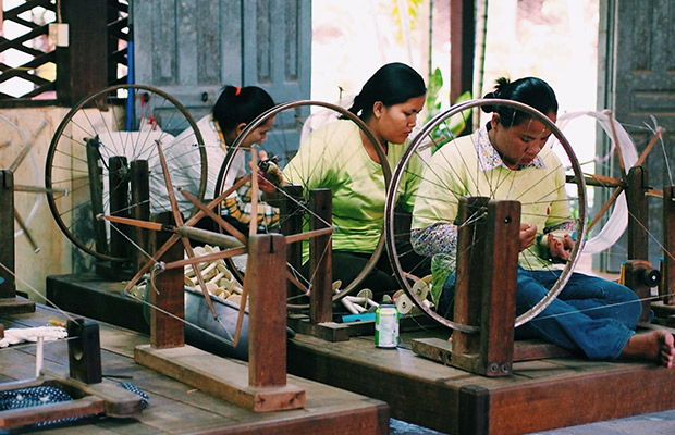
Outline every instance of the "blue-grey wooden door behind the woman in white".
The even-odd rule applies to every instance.
[[[135,82],[199,119],[228,84],[308,99],[310,0],[143,0],[133,4]]]

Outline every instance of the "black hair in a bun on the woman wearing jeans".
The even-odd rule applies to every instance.
[[[557,113],[555,92],[548,83],[537,77],[524,77],[515,82],[511,82],[505,77],[498,78],[494,90],[486,94],[483,98],[518,101],[537,109],[544,115],[551,112]],[[500,115],[500,123],[506,128],[519,125],[532,117],[523,111],[507,105],[483,105],[481,109],[486,113],[498,113]]]

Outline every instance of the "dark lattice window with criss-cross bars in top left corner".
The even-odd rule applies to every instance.
[[[102,82],[116,84],[126,82],[127,45],[130,40],[128,1],[105,0],[107,2],[106,32],[108,71]],[[70,91],[70,86],[58,86],[57,79],[62,59],[53,24],[61,21],[62,0],[0,0],[0,105],[35,105],[56,103],[60,91]],[[52,37],[50,37],[50,25]],[[72,33],[72,28],[69,29]],[[100,47],[96,48],[100,50]],[[68,70],[76,62],[87,62],[87,55],[70,60]],[[76,84],[75,84],[76,85]]]

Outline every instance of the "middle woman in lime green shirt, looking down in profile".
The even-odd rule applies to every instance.
[[[380,67],[364,85],[348,109],[368,126],[384,148],[393,167],[425,105],[422,77],[403,63]],[[333,195],[333,279],[347,284],[365,269],[375,251],[384,223],[386,187],[377,144],[352,121],[339,120],[315,130],[300,145],[283,170],[286,183],[305,189],[330,188]],[[402,195],[412,210],[414,181]],[[376,294],[400,288],[386,256],[361,282]]]

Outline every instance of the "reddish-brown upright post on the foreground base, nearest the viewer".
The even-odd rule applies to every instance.
[[[244,286],[248,310],[248,385],[286,385],[286,240],[280,234],[248,238]],[[242,309],[244,309],[242,307]]]

